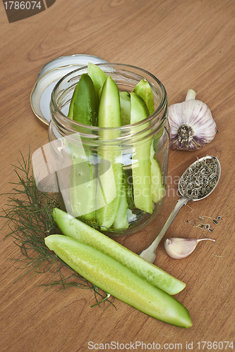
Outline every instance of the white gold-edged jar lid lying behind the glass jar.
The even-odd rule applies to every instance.
[[[49,103],[56,83],[71,71],[88,65],[88,63],[107,63],[107,61],[98,56],[78,54],[61,56],[42,67],[30,94],[30,103],[32,111],[44,127],[48,127],[51,120]]]

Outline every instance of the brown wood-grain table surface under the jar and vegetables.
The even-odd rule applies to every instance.
[[[177,178],[196,158],[218,156],[222,175],[215,192],[183,206],[166,237],[203,238],[186,220],[223,221],[183,260],[169,258],[163,241],[155,264],[186,282],[176,298],[188,308],[193,327],[159,322],[121,301],[104,310],[92,291],[38,286],[49,273],[30,278],[9,258],[21,258],[7,226],[1,228],[1,351],[232,351],[234,339],[234,0],[56,0],[46,11],[8,23],[0,5],[1,193],[11,192],[20,152],[28,158],[48,142],[30,106],[42,65],[59,56],[90,54],[150,71],[167,89],[169,104],[188,89],[207,103],[219,132],[199,151],[169,153],[167,197],[161,213],[143,231],[117,239],[140,253],[155,238],[179,197]],[[1,195],[0,208],[8,196]],[[207,218],[206,221],[209,221]],[[1,219],[1,227],[4,219]],[[16,282],[15,282],[16,281]],[[13,283],[15,282],[15,283]],[[206,341],[205,343],[202,341]],[[217,341],[217,344],[215,343]],[[220,341],[220,344],[219,344]],[[229,341],[229,344],[224,341]],[[214,344],[213,344],[214,342]],[[235,346],[235,341],[234,341]]]

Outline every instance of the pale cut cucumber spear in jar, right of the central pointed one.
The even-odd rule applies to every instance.
[[[131,124],[144,120],[148,115],[145,101],[138,94],[131,92]],[[147,124],[148,122],[146,122],[146,127]],[[138,132],[138,128],[143,130],[143,126],[133,128],[135,132]],[[135,143],[132,156],[135,161],[132,166],[132,176],[135,207],[152,214],[150,146],[150,138]]]

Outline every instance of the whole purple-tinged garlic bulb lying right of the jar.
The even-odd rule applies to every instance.
[[[188,89],[186,100],[169,106],[171,148],[193,151],[210,143],[217,132],[210,108],[195,99],[193,89]]]

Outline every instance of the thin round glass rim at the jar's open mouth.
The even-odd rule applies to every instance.
[[[75,128],[71,128],[71,132],[76,132],[76,127],[87,127],[89,128],[90,131],[100,131],[100,130],[121,130],[123,132],[125,132],[125,130],[130,129],[130,127],[139,127],[142,126],[144,124],[146,124],[146,122],[151,122],[152,120],[155,119],[155,117],[157,115],[159,115],[159,113],[161,113],[161,111],[166,107],[166,103],[167,103],[167,92],[166,89],[164,87],[164,85],[162,84],[162,82],[160,82],[157,77],[155,77],[155,75],[152,75],[152,73],[148,72],[147,70],[144,70],[143,68],[138,68],[138,66],[134,66],[134,65],[128,65],[128,64],[123,64],[123,63],[98,63],[96,64],[97,66],[99,66],[100,68],[102,67],[107,67],[107,68],[112,68],[112,70],[108,70],[108,71],[104,71],[104,73],[119,73],[116,68],[123,68],[127,69],[126,72],[128,73],[133,73],[131,70],[137,70],[139,73],[143,73],[144,75],[148,75],[149,77],[152,78],[153,81],[155,81],[155,83],[158,84],[160,92],[162,94],[162,96],[159,99],[159,105],[157,106],[157,108],[155,109],[154,113],[150,114],[147,118],[145,118],[144,120],[141,120],[139,122],[135,122],[134,124],[131,125],[123,125],[123,126],[119,126],[119,127],[99,127],[99,126],[91,126],[91,125],[83,125],[80,122],[76,122],[74,120],[71,120],[71,118],[68,118],[68,116],[66,116],[61,109],[59,108],[59,106],[56,103],[56,91],[59,89],[59,86],[61,83],[63,83],[66,79],[68,79],[68,77],[73,75],[73,79],[75,79],[76,77],[79,77],[80,75],[82,75],[83,73],[88,73],[88,65],[84,65],[81,68],[78,68],[76,70],[71,71],[70,73],[68,73],[67,75],[64,75],[64,77],[62,77],[59,82],[56,83],[53,91],[52,91],[52,96],[51,96],[51,102],[50,102],[50,109],[52,110],[52,106],[55,109],[56,113],[59,114],[60,120],[63,123],[60,123],[60,125],[69,125],[71,127],[71,125],[73,125]],[[128,70],[130,69],[130,70]],[[124,72],[124,71],[123,71]],[[78,73],[78,75],[74,76],[75,73]],[[79,74],[80,73],[80,74]],[[138,77],[142,77],[139,73],[135,73],[135,75],[138,75]],[[142,77],[145,78],[145,77]],[[152,87],[155,87],[155,84],[151,84]],[[156,90],[157,92],[157,90]],[[164,122],[166,121],[166,119],[159,121],[161,123],[159,123],[159,125],[157,126],[157,130],[159,128],[162,128],[162,125],[164,125]],[[72,122],[72,123],[71,123]],[[70,128],[68,128],[68,130],[70,130]]]

